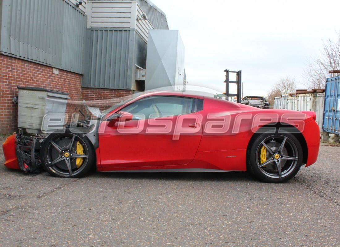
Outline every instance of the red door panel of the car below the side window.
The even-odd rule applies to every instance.
[[[101,166],[188,164],[195,157],[201,137],[202,122],[194,113],[128,122],[103,121],[99,129]]]

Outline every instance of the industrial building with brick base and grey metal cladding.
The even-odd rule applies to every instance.
[[[0,20],[1,134],[16,130],[18,86],[103,108],[143,91],[148,31],[169,29],[149,0],[0,0]]]

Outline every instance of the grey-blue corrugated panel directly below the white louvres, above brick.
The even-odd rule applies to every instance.
[[[131,89],[133,30],[87,30],[83,87]]]

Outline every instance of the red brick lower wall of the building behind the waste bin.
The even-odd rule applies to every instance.
[[[17,130],[17,104],[12,98],[18,95],[17,86],[43,87],[69,93],[67,113],[73,113],[75,105],[86,100],[89,105],[101,110],[121,100],[128,99],[130,90],[81,88],[80,74],[59,70],[52,73],[52,67],[0,55],[0,134]]]

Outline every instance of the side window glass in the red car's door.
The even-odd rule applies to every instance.
[[[153,96],[126,106],[122,111],[129,112],[133,119],[161,118],[190,113],[191,98],[175,96]]]

